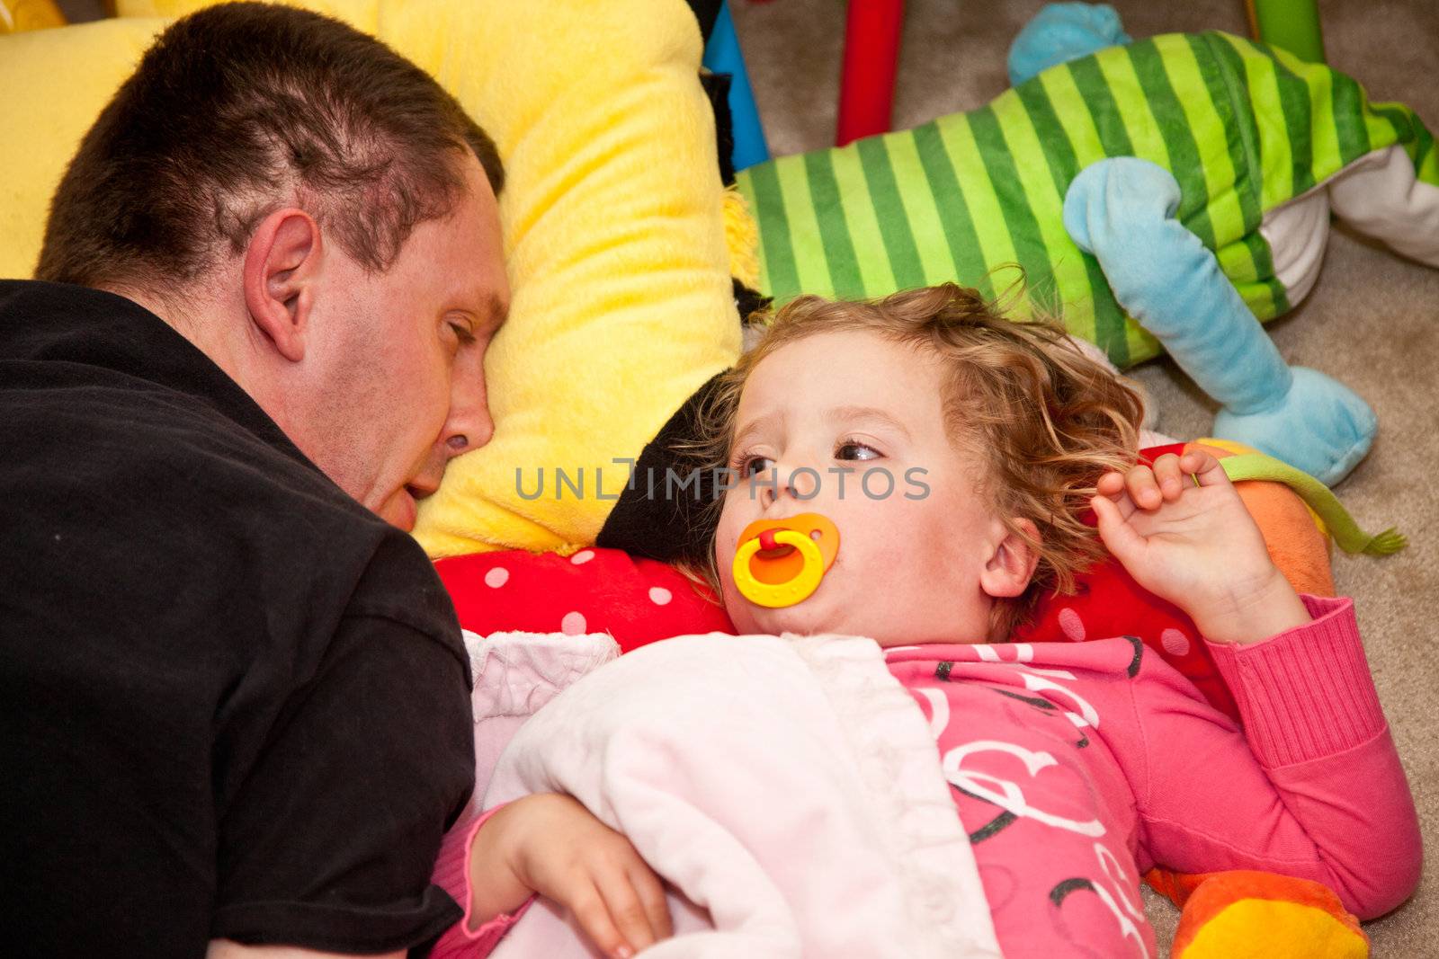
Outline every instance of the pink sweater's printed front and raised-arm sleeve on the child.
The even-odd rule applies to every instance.
[[[1243,732],[1138,640],[891,650],[1006,956],[1154,956],[1151,866],[1318,880],[1371,919],[1419,881],[1413,798],[1348,600],[1210,644]]]

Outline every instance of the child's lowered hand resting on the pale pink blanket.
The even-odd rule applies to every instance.
[[[567,795],[530,795],[495,812],[475,835],[469,870],[476,922],[519,909],[532,890],[574,913],[613,959],[671,935],[659,878],[629,840]]]

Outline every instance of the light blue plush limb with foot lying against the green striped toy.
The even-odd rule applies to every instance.
[[[1180,188],[1147,160],[1091,164],[1065,194],[1065,230],[1099,260],[1114,298],[1222,404],[1215,436],[1269,453],[1327,486],[1374,441],[1374,411],[1315,370],[1288,367],[1197,236]]]

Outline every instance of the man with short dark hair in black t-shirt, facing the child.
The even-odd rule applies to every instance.
[[[468,659],[401,531],[492,431],[501,183],[422,70],[285,7],[177,22],[85,137],[49,282],[0,283],[7,953],[397,953],[460,917],[430,870]],[[541,840],[603,830],[566,809]],[[519,834],[491,912],[573,903],[517,881]]]

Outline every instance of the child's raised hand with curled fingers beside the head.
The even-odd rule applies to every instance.
[[[1258,643],[1309,621],[1209,453],[1167,453],[1153,467],[1107,473],[1098,492],[1091,506],[1104,545],[1141,587],[1184,610],[1206,638]]]

